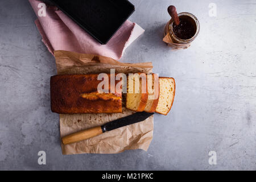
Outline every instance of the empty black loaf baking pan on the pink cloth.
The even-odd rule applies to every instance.
[[[101,44],[106,44],[133,14],[127,0],[50,0]]]

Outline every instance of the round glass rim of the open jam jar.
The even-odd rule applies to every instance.
[[[182,13],[179,13],[177,14],[178,16],[189,16],[190,18],[192,18],[195,23],[196,23],[196,33],[195,35],[192,36],[192,38],[190,39],[180,39],[178,38],[175,34],[174,34],[174,31],[172,30],[172,24],[174,23],[174,20],[171,19],[170,20],[170,23],[169,23],[169,34],[171,34],[173,36],[174,39],[176,39],[177,41],[179,42],[185,42],[185,43],[189,43],[189,42],[192,42],[192,40],[194,40],[196,38],[196,36],[199,34],[199,30],[200,30],[200,24],[199,24],[199,20],[196,18],[195,15],[191,14],[191,13],[188,13],[188,12],[182,12]]]

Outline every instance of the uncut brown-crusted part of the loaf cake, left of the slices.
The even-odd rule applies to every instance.
[[[56,75],[51,77],[51,109],[59,114],[75,113],[122,113],[122,92],[110,92],[108,74],[108,93],[99,93],[98,74]],[[119,81],[115,81],[114,86]],[[122,85],[120,86],[122,87]]]

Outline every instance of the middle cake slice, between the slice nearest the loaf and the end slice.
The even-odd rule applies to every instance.
[[[159,78],[155,73],[147,74],[147,104],[144,111],[154,113],[159,100]]]

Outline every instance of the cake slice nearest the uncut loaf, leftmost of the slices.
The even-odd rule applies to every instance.
[[[146,73],[129,74],[127,78],[126,108],[143,111],[147,103]]]

